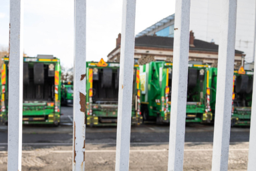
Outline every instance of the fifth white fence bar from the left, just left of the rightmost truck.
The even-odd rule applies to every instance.
[[[221,1],[218,78],[212,170],[227,170],[235,60],[237,0]]]

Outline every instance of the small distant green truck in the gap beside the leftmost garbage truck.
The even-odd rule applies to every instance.
[[[73,104],[73,81],[61,82],[61,105]]]

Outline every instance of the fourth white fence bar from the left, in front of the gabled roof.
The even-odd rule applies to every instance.
[[[176,0],[168,170],[183,170],[190,0]]]

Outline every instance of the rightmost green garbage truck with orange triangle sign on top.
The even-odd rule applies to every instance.
[[[211,109],[215,116],[217,68],[207,69],[211,83]],[[240,67],[234,71],[231,126],[249,126],[251,123],[251,102],[253,96],[253,71]]]

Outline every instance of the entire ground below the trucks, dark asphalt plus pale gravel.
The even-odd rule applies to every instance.
[[[61,124],[23,125],[22,170],[72,170],[72,106],[61,108]],[[213,124],[186,124],[184,171],[210,171]],[[169,126],[132,126],[130,169],[167,170]],[[231,128],[229,170],[247,170],[249,128]],[[7,170],[7,126],[0,126],[0,171]],[[116,126],[86,128],[86,170],[114,170]],[[203,161],[203,162],[202,162]]]

